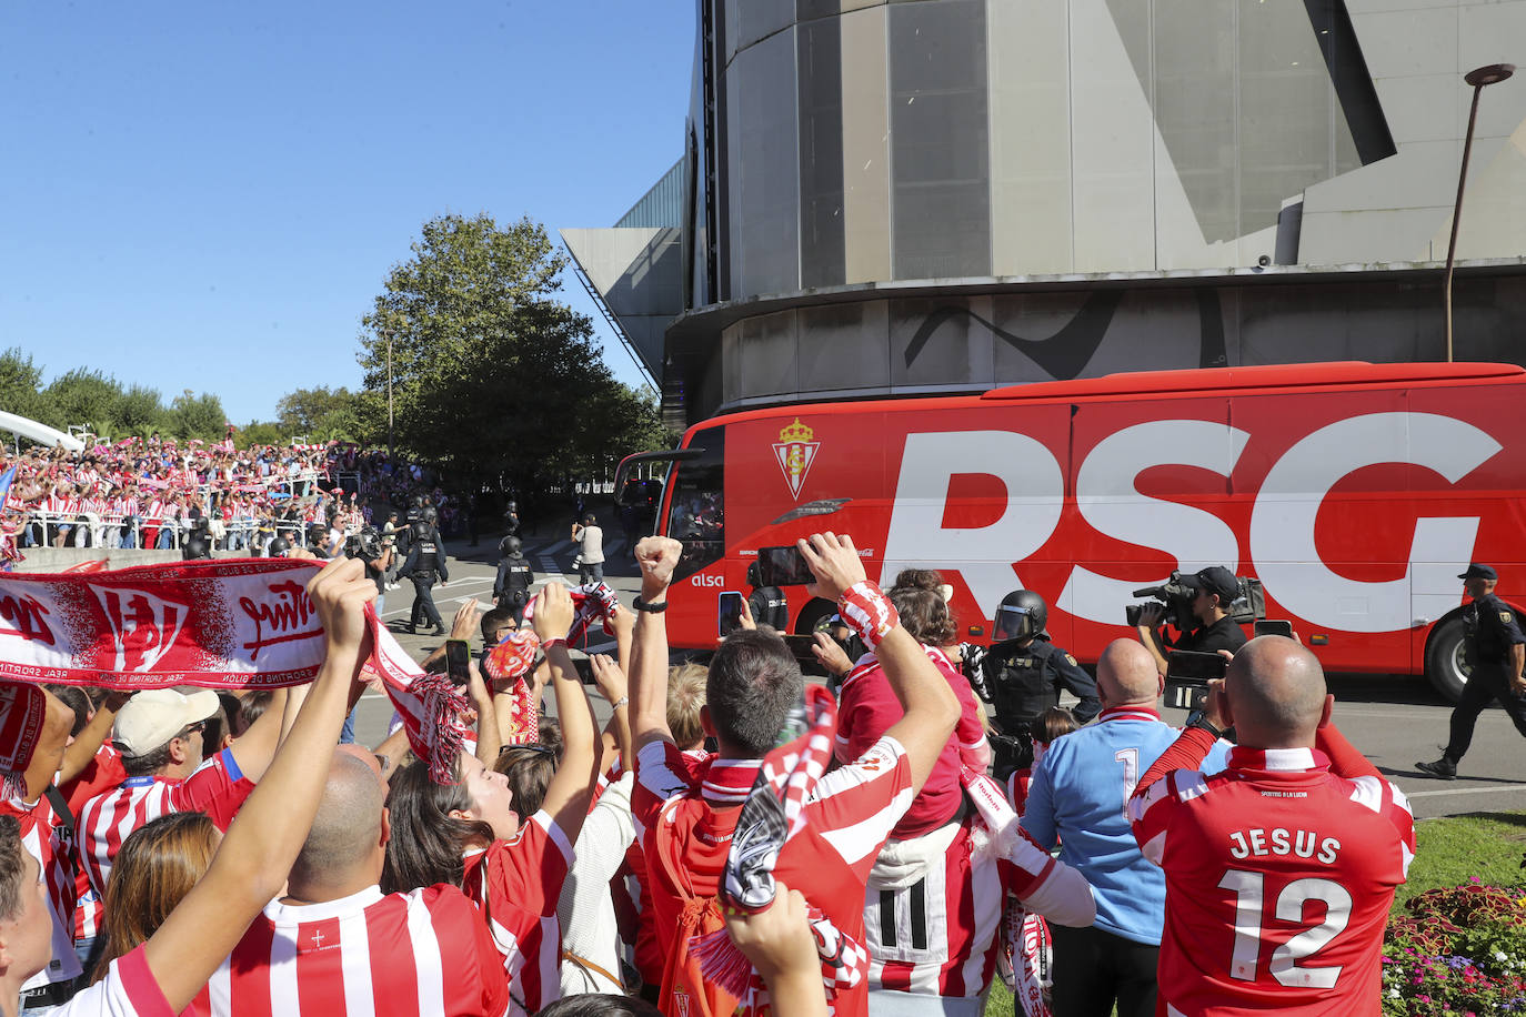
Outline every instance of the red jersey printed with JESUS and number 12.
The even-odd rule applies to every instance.
[[[1380,1012],[1383,932],[1415,857],[1404,794],[1314,749],[1235,749],[1134,800],[1166,872],[1166,1014]]]

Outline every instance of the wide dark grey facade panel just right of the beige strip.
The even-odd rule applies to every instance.
[[[896,279],[990,273],[984,0],[890,8]]]

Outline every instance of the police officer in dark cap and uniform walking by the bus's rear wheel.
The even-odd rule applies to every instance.
[[[1479,714],[1492,700],[1499,700],[1515,721],[1515,730],[1526,735],[1526,634],[1511,605],[1494,596],[1499,573],[1479,563],[1468,566],[1460,576],[1463,592],[1473,601],[1462,608],[1462,624],[1466,627],[1466,653],[1473,660],[1473,674],[1462,686],[1462,698],[1451,712],[1451,739],[1436,762],[1416,762],[1421,773],[1444,781],[1457,776],[1457,762],[1473,744],[1473,726]]]

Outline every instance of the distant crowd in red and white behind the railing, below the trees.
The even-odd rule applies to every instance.
[[[6,456],[15,474],[0,518],[0,553],[34,546],[180,549],[204,526],[214,549],[262,553],[314,525],[380,528],[391,506],[424,496],[446,537],[464,534],[470,506],[429,467],[353,442],[250,445],[175,442],[157,433],[79,451]]]

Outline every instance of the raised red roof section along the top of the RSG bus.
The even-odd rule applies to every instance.
[[[1315,364],[1264,364],[1254,367],[1195,367],[1187,371],[1138,371],[1074,381],[1035,381],[992,389],[983,399],[1054,399],[1126,396],[1169,392],[1212,395],[1225,389],[1293,389],[1383,383],[1466,381],[1526,374],[1518,364],[1497,363],[1401,363],[1373,364],[1343,360]]]

